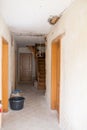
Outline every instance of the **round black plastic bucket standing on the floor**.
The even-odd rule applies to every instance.
[[[10,108],[12,110],[21,110],[24,107],[24,97],[11,97],[9,99]]]

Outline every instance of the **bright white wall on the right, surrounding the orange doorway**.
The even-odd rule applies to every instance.
[[[63,130],[87,130],[87,0],[76,0],[48,35],[46,97],[51,96],[51,43],[61,42],[61,116]]]

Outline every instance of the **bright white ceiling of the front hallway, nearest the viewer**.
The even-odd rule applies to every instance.
[[[72,0],[0,0],[0,13],[13,32],[47,34],[48,18],[59,15]]]

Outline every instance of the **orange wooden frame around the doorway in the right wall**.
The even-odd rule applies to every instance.
[[[57,49],[59,47],[59,68],[61,69],[61,40],[64,33],[56,37],[52,41],[51,45],[51,109],[57,110],[57,75],[59,75],[60,81],[60,71],[57,74]],[[59,44],[59,45],[58,45]],[[58,119],[60,118],[60,83],[59,83],[59,108],[58,108]]]

